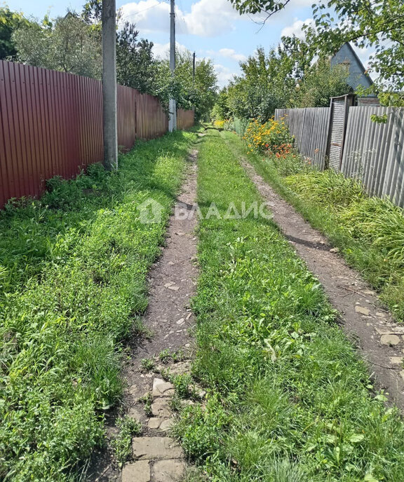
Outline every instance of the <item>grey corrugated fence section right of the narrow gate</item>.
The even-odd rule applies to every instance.
[[[387,123],[372,122],[372,113],[386,113]],[[404,109],[350,107],[341,170],[404,207]]]

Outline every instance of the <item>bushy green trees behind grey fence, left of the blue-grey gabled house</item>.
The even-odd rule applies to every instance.
[[[351,92],[346,69],[331,68],[328,60],[311,64],[314,53],[307,43],[288,37],[282,41],[268,54],[259,48],[241,62],[242,76],[236,77],[217,101],[220,104],[213,111],[217,118],[266,122],[275,109],[328,106],[330,97]]]

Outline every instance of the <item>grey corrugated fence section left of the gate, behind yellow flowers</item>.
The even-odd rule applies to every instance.
[[[320,169],[325,166],[330,107],[307,107],[306,109],[276,109],[276,121],[284,119],[290,134],[295,137],[299,152]]]

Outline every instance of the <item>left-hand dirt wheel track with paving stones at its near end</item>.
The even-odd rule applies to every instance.
[[[196,156],[189,155],[186,181],[177,198],[175,211],[189,211],[196,198]],[[143,432],[132,443],[133,457],[120,471],[111,454],[104,457],[87,478],[90,481],[107,482],[174,482],[180,481],[186,469],[180,446],[169,436],[173,413],[170,401],[174,392],[171,383],[163,380],[162,369],[171,374],[189,372],[192,352],[191,329],[194,315],[189,301],[194,294],[197,268],[196,216],[171,216],[166,247],[149,273],[149,306],[143,322],[152,331],[149,340],[130,346],[130,356],[123,367],[122,378],[128,387],[123,397],[123,413],[142,423]],[[181,219],[178,219],[181,218]],[[159,354],[180,350],[181,361],[163,364]],[[145,371],[143,359],[157,361],[156,366]],[[148,400],[147,403],[140,398]],[[145,410],[146,406],[146,410]]]

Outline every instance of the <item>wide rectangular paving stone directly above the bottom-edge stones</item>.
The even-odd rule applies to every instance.
[[[174,459],[182,457],[182,449],[171,437],[135,437],[133,456],[140,460]]]

